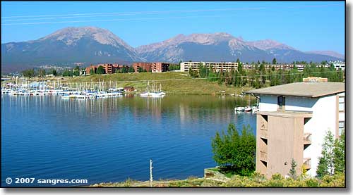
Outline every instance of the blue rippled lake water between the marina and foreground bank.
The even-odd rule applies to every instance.
[[[1,96],[1,185],[7,177],[86,179],[88,184],[203,177],[216,165],[211,138],[229,122],[238,130],[256,115],[234,113],[234,96],[168,95],[61,99]],[[253,102],[252,102],[253,103]],[[72,184],[61,184],[71,186]]]

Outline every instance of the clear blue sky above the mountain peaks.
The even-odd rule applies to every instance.
[[[2,43],[38,39],[68,26],[102,27],[131,46],[177,34],[227,32],[301,51],[345,53],[344,1],[1,1]]]

